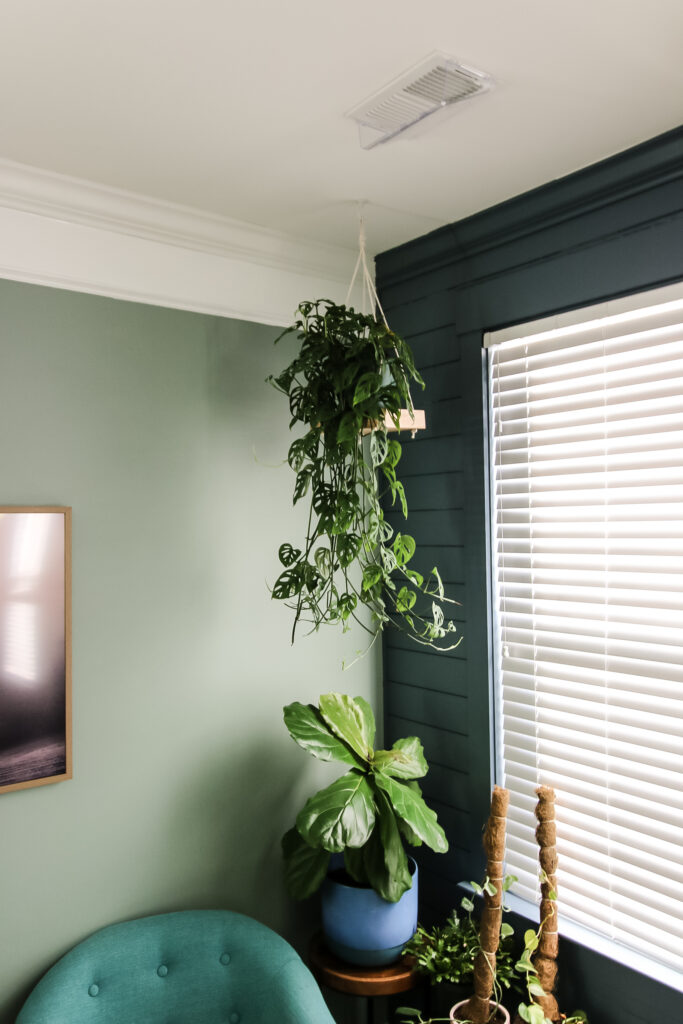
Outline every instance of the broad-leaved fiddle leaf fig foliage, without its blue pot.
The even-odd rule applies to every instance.
[[[411,888],[404,844],[449,848],[436,814],[422,799],[417,779],[427,774],[417,736],[375,751],[375,718],[362,697],[325,693],[318,705],[285,708],[290,735],[322,761],[349,770],[310,797],[296,824],[283,837],[285,877],[296,899],[322,885],[333,853],[344,856],[347,873],[394,903]]]

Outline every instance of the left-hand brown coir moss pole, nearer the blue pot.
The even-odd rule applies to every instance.
[[[503,920],[503,868],[505,860],[505,825],[510,795],[507,790],[494,786],[490,814],[483,834],[486,854],[486,874],[494,889],[484,890],[484,904],[479,924],[480,949],[474,962],[474,995],[464,1007],[464,1019],[473,1024],[484,1024],[490,1018],[489,1000],[494,993],[496,953],[501,937]],[[493,895],[490,895],[493,893]]]

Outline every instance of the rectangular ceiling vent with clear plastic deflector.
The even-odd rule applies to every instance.
[[[459,63],[444,53],[432,53],[347,117],[358,123],[360,145],[372,150],[423,118],[452,103],[486,92],[490,76]]]

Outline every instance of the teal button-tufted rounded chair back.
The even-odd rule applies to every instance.
[[[38,982],[16,1024],[334,1024],[285,939],[230,910],[111,925]]]

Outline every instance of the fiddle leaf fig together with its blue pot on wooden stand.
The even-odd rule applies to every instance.
[[[341,693],[323,694],[317,707],[288,705],[285,724],[314,757],[348,767],[306,801],[283,837],[288,888],[304,899],[322,887],[323,931],[337,955],[391,963],[417,926],[417,865],[404,844],[449,848],[417,781],[427,773],[422,744],[409,736],[374,750],[370,705]]]

